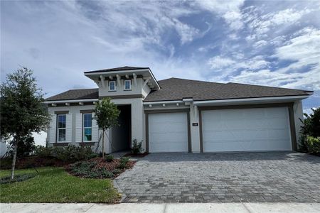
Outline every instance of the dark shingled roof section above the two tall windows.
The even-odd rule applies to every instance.
[[[98,99],[98,89],[70,89],[66,92],[48,97],[46,101],[73,100],[73,99]]]

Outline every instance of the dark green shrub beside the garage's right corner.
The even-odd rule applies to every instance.
[[[304,114],[305,119],[301,120],[303,125],[300,129],[302,136],[299,138],[299,151],[319,154],[320,107],[312,111],[309,115]]]

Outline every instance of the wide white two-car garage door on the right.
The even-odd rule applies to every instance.
[[[287,107],[202,111],[203,151],[291,151]]]

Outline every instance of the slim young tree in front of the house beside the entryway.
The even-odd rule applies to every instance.
[[[118,126],[119,109],[110,98],[104,98],[95,105],[97,125],[102,129],[102,158],[105,156],[105,131],[113,126]]]

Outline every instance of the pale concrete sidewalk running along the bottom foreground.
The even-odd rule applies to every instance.
[[[0,204],[0,212],[320,212],[320,203]]]

